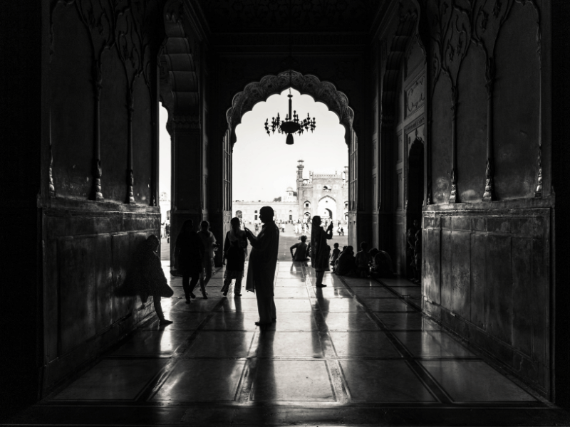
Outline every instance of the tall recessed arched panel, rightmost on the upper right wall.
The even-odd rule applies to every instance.
[[[537,19],[532,4],[514,2],[495,49],[496,195],[497,199],[532,197],[537,186],[541,105]]]

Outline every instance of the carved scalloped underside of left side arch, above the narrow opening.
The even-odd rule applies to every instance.
[[[182,21],[184,2],[167,0],[163,9],[165,41],[160,50],[160,100],[172,122],[199,127],[199,85],[192,49]]]

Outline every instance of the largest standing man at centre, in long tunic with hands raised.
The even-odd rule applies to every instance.
[[[259,219],[264,226],[256,237],[248,228],[245,233],[252,252],[249,254],[246,289],[255,292],[259,322],[256,325],[268,325],[276,321],[274,297],[275,269],[279,253],[279,228],[273,220],[274,211],[271,206],[259,210]]]

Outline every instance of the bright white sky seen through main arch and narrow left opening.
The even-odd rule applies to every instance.
[[[268,200],[284,196],[288,186],[296,189],[297,160],[305,161],[304,176],[315,173],[341,173],[348,166],[348,148],[344,141],[344,127],[338,116],[322,102],[315,102],[309,95],[291,90],[293,109],[299,118],[311,113],[316,119],[316,129],[311,134],[294,135],[293,145],[285,144],[286,135],[265,133],[266,119],[284,119],[288,110],[289,90],[272,95],[266,102],[259,102],[244,114],[236,128],[234,145],[233,198],[234,200]],[[170,135],[166,132],[167,111],[160,107],[160,192],[170,194]]]

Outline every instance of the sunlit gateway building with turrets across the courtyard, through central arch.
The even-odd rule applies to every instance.
[[[232,201],[233,214],[246,223],[259,222],[259,210],[271,206],[276,221],[303,221],[315,215],[323,219],[332,219],[335,223],[348,221],[348,167],[340,174],[314,174],[303,176],[304,161],[297,163],[296,192],[292,187],[286,189],[281,201]]]

